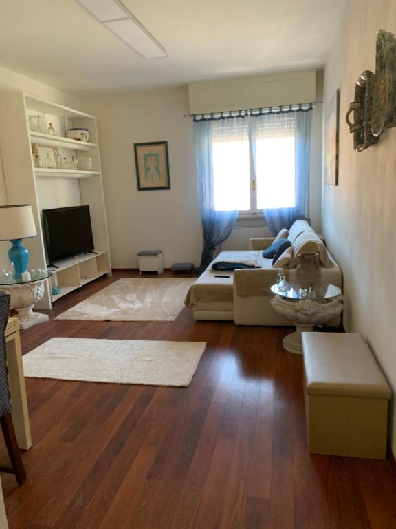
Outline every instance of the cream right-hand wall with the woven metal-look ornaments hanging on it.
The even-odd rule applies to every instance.
[[[355,81],[375,71],[377,31],[396,33],[394,0],[349,0],[325,70],[325,102],[341,89],[339,185],[324,185],[323,231],[344,273],[344,326],[363,333],[396,391],[396,128],[364,152],[345,123]],[[395,406],[391,417],[396,425]],[[396,453],[396,427],[391,431]]]

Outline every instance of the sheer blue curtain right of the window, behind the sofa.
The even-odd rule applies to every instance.
[[[263,209],[263,215],[272,234],[276,235],[282,228],[289,228],[295,220],[305,218],[308,212],[309,198],[309,163],[311,152],[311,119],[312,111],[296,111],[294,114],[295,138],[295,178],[296,204],[294,207]],[[260,116],[260,120],[273,119],[276,116]],[[282,120],[283,116],[279,116]],[[281,122],[280,122],[280,126]]]

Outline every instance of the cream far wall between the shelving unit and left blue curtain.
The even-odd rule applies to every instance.
[[[199,263],[201,220],[186,87],[81,99],[96,116],[112,266],[137,267],[136,253],[162,249],[165,266]],[[170,189],[137,191],[134,143],[168,141]]]

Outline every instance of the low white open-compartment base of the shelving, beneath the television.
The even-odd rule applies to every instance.
[[[51,266],[56,267],[56,271],[52,270],[51,285],[61,289],[60,293],[51,295],[53,302],[100,276],[111,273],[107,251],[82,253],[56,261],[56,264],[52,263]]]

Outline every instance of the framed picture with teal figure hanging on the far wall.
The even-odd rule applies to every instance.
[[[168,142],[135,143],[137,189],[170,189]]]

